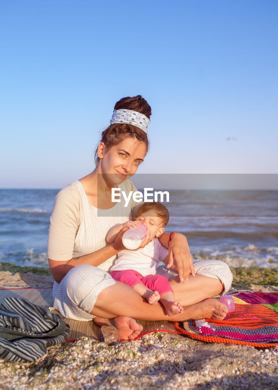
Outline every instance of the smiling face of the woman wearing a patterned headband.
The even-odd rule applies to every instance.
[[[115,184],[134,175],[146,155],[146,145],[134,137],[126,138],[110,149],[101,144],[99,157],[102,173],[112,174],[110,178]]]

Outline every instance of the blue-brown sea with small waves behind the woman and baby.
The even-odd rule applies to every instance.
[[[49,218],[59,190],[0,189],[0,262],[48,267]],[[165,230],[185,234],[192,258],[278,268],[278,191],[169,191]]]

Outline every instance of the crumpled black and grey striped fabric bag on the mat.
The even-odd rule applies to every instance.
[[[0,306],[0,358],[34,362],[67,339],[69,326],[47,308],[6,298]]]

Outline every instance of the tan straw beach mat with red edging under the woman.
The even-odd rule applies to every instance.
[[[53,306],[52,287],[0,289],[0,303],[2,303],[5,298],[10,297],[23,298],[39,306]],[[96,340],[101,339],[100,327],[97,326],[93,321],[76,321],[74,319],[65,318],[58,312],[58,310],[55,309],[52,309],[51,312],[60,315],[65,323],[69,325],[70,333],[69,337],[67,338],[68,341],[77,340],[80,337],[91,337]],[[178,329],[175,328],[174,323],[169,321],[137,320],[137,322],[143,326],[143,331],[137,338],[153,332],[181,333]]]

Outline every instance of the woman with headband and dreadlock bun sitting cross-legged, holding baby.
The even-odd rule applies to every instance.
[[[203,261],[193,265],[187,240],[179,233],[164,233],[160,242],[169,243],[168,269],[175,299],[183,313],[168,317],[161,305],[151,306],[127,285],[107,273],[116,254],[123,250],[123,229],[114,243],[106,241],[113,226],[132,218],[137,204],[112,202],[112,188],[136,191],[127,180],[135,174],[148,151],[147,128],[151,108],[140,95],[126,97],[114,107],[111,125],[102,133],[95,154],[96,168],[69,184],[57,195],[49,228],[48,258],[55,284],[54,307],[65,317],[103,324],[113,319],[121,338],[134,339],[142,330],[137,319],[186,321],[214,317],[223,319],[227,307],[209,298],[228,291],[232,276],[227,264]],[[150,233],[150,232],[149,232]],[[148,236],[142,247],[148,243]],[[78,267],[77,267],[78,266]],[[172,271],[169,269],[178,271]],[[173,277],[175,276],[176,277]]]

